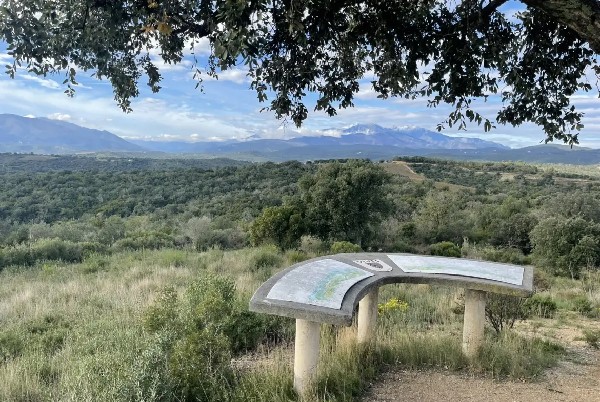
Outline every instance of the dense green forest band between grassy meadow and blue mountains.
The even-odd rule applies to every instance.
[[[349,241],[363,250],[533,258],[566,276],[597,267],[595,177],[521,163],[397,159],[420,180],[368,160],[2,174],[0,265],[163,247],[294,249],[312,238],[324,250]]]

